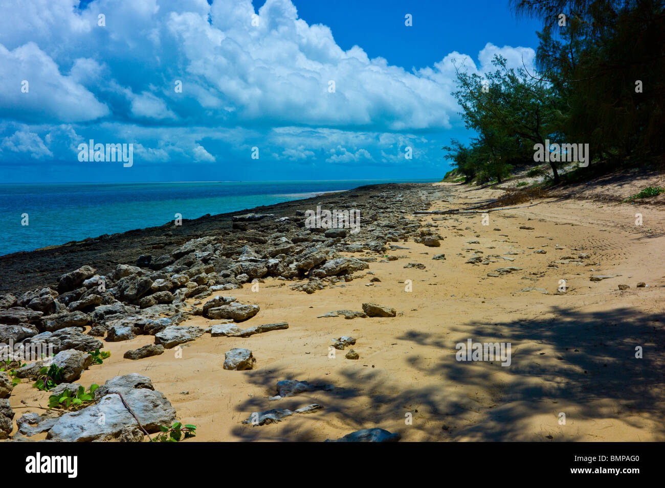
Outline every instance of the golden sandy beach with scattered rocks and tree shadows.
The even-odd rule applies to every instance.
[[[382,185],[363,195],[368,205],[372,195],[383,195],[386,208],[396,198],[409,197],[410,210],[450,210],[471,208],[503,193],[448,183],[408,186],[394,191]],[[616,199],[622,191],[630,193],[622,185],[600,189],[603,195],[616,194]],[[400,218],[417,223],[416,230],[406,240],[389,240],[378,251],[366,246],[360,252],[342,251],[354,242],[353,234],[328,242],[338,256],[368,258],[368,268],[332,276],[313,293],[291,287],[310,282],[308,278],[264,276],[255,286],[248,282],[186,297],[180,307],[192,314],[179,327],[205,330],[219,320],[194,310],[216,295],[230,295],[260,307],[256,315],[235,324],[241,329],[281,322],[287,322],[288,329],[251,337],[211,337],[205,332],[136,361],[124,359],[124,353],[154,343],[154,335],[136,334],[126,341],[99,337],[111,356],[83,370],[76,383],[104,384],[130,373],[148,376],[178,420],[197,426],[192,441],[321,442],[368,428],[398,433],[402,442],[662,441],[665,212],[658,205],[572,198],[574,193],[487,212],[484,225],[479,213],[414,214],[402,206],[390,216],[393,220],[387,210],[380,211],[377,220],[362,220],[363,212],[362,232]],[[352,205],[353,194],[334,198]],[[317,202],[325,205],[326,198],[332,197],[318,197]],[[313,202],[291,203],[287,213],[312,208]],[[275,214],[265,208],[261,212]],[[635,224],[638,212],[642,226]],[[246,240],[251,229],[236,227],[225,232],[239,231],[243,237],[233,242],[225,236],[223,246],[255,246]],[[426,246],[422,238],[415,242],[423,230],[421,236],[438,234],[440,246]],[[474,257],[476,262],[469,262]],[[105,266],[71,264],[70,269]],[[215,266],[219,276],[221,268]],[[592,281],[592,276],[608,278]],[[565,291],[559,289],[561,280]],[[43,285],[49,282],[53,280]],[[638,287],[640,283],[644,286]],[[628,288],[620,290],[619,285]],[[13,290],[19,291],[25,290]],[[331,314],[362,311],[368,302],[392,307],[396,316],[345,319]],[[91,321],[84,332],[96,325]],[[340,336],[356,342],[344,350],[331,349]],[[468,339],[510,343],[510,365],[458,361],[456,345]],[[636,347],[642,348],[642,359],[636,358]],[[251,351],[251,370],[223,368],[225,352],[233,348]],[[359,359],[346,359],[350,348]],[[316,388],[271,398],[281,380],[307,381]],[[26,404],[48,403],[49,394],[31,384],[23,380],[9,396],[15,410],[11,436],[23,414],[44,412]],[[253,412],[295,412],[311,404],[320,408],[272,424],[241,423]],[[46,437],[47,432],[41,432],[23,440]]]

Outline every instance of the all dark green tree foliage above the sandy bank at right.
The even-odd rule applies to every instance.
[[[497,70],[486,74],[485,80],[458,69],[453,94],[467,129],[477,137],[469,147],[452,144],[444,149],[452,149],[447,159],[467,181],[501,181],[511,166],[534,165],[533,145],[544,145],[545,139],[589,144],[590,160],[605,173],[662,157],[665,2],[510,3],[516,15],[542,23],[536,72],[509,69],[500,56],[493,61]],[[549,166],[552,181],[547,184],[557,185],[562,181],[559,164],[549,162]],[[541,176],[533,171],[533,176]],[[569,173],[573,175],[565,179],[568,182],[597,174],[591,167]]]

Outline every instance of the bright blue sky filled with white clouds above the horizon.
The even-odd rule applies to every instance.
[[[441,147],[471,135],[455,66],[482,74],[501,54],[532,69],[539,29],[503,0],[5,0],[0,13],[0,183],[441,178]],[[90,139],[131,161],[88,161]]]

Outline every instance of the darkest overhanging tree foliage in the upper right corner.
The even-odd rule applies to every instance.
[[[657,0],[512,0],[543,23],[536,65],[565,101],[558,129],[620,164],[665,151],[665,3]],[[559,15],[566,15],[560,25]]]

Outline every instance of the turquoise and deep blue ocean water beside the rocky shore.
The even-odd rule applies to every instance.
[[[436,180],[0,185],[0,255],[376,183]],[[27,214],[28,225],[23,225]]]

